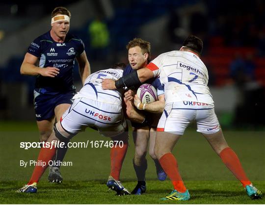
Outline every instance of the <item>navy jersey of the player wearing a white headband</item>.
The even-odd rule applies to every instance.
[[[55,42],[50,31],[36,38],[27,52],[39,58],[39,67],[55,67],[60,73],[55,77],[37,76],[35,88],[44,88],[48,92],[74,90],[75,58],[83,51],[81,39],[68,33],[63,43]]]

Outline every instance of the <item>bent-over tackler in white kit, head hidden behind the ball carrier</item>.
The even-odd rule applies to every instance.
[[[107,186],[117,192],[117,195],[127,195],[130,192],[120,182],[120,171],[128,148],[128,127],[122,112],[122,96],[113,90],[103,90],[102,79],[118,79],[122,77],[124,64],[117,64],[113,69],[101,70],[86,78],[82,89],[74,96],[74,102],[60,121],[53,127],[53,132],[47,142],[53,140],[68,143],[69,139],[87,127],[96,128],[99,132],[122,141],[123,146],[113,146],[110,151],[110,176]],[[17,192],[36,193],[37,183],[53,158],[56,148],[41,148],[38,161],[46,166],[35,166],[31,179]]]

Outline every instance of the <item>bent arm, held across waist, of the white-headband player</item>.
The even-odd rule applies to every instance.
[[[36,66],[38,57],[30,53],[26,53],[20,67],[20,74],[30,76],[55,77],[59,74],[59,69],[54,67],[40,68]]]

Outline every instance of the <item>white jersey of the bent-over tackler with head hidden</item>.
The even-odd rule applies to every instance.
[[[110,78],[117,80],[122,77],[123,70],[106,69],[91,74],[85,79],[84,86],[74,96],[77,98],[87,98],[93,101],[117,104],[122,106],[121,94],[116,90],[103,90],[102,79]]]

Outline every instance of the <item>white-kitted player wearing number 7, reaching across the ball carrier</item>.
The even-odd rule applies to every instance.
[[[160,76],[164,84],[165,108],[157,128],[155,154],[174,186],[174,190],[162,200],[190,198],[171,151],[192,120],[196,120],[197,131],[202,133],[227,168],[242,183],[247,195],[251,199],[262,198],[262,192],[247,178],[237,154],[223,136],[207,86],[208,71],[200,59],[202,49],[202,40],[190,35],[180,51],[162,53],[146,68],[117,81],[106,79],[102,86],[104,89],[116,89]]]

